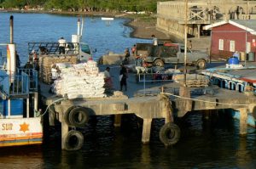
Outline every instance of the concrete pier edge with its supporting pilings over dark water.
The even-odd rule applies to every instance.
[[[102,99],[61,100],[58,104],[54,104],[55,115],[50,115],[50,118],[57,116],[57,119],[61,122],[62,149],[66,149],[65,138],[67,138],[69,128],[72,127],[67,124],[65,115],[73,106],[86,108],[89,110],[88,115],[114,115],[115,127],[120,127],[121,115],[137,115],[137,117],[143,119],[143,144],[150,141],[153,118],[164,118],[166,123],[172,123],[173,115],[182,117],[193,110],[207,110],[211,113],[216,112],[214,110],[223,109],[239,110],[241,112],[240,133],[241,135],[247,133],[247,109],[254,107],[255,97],[247,97],[243,93],[216,86],[201,89],[202,91],[205,90],[201,94],[198,94],[198,90],[199,88],[196,87],[183,87],[179,83],[172,82],[163,85],[163,87],[152,87],[138,91],[137,96],[133,98],[127,98],[123,95]],[[196,94],[193,94],[195,92]],[[147,93],[151,94],[148,95]],[[49,105],[57,99],[60,98],[46,97],[44,103]]]

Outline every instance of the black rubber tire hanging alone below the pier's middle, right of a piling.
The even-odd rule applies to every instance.
[[[166,146],[177,144],[180,138],[180,129],[176,124],[168,122],[161,127],[159,136],[160,141]]]

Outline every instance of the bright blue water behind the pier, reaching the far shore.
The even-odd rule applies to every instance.
[[[9,42],[9,13],[0,13],[0,43]],[[14,15],[14,42],[20,54],[21,61],[26,63],[28,42],[57,42],[64,37],[71,42],[73,34],[77,34],[78,16],[54,14],[20,14]],[[145,39],[131,38],[131,28],[124,25],[127,20],[115,19],[109,23],[101,17],[84,19],[82,42],[89,43],[96,49],[94,57],[98,59],[103,54],[112,51],[124,53],[125,48],[131,48],[136,42],[149,42]],[[2,47],[3,53],[5,46]]]

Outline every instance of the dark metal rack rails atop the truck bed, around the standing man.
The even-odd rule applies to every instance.
[[[28,54],[60,54],[59,42],[28,42]],[[65,54],[79,54],[78,42],[67,42],[65,44]]]

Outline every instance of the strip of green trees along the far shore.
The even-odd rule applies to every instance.
[[[170,1],[170,0],[169,0]],[[4,8],[24,8],[41,6],[45,9],[78,11],[84,8],[114,11],[148,11],[155,12],[157,0],[0,0]]]

